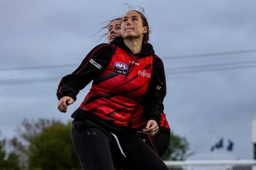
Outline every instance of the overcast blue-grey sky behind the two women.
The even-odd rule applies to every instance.
[[[89,86],[63,114],[58,83],[103,43],[105,32],[94,35],[99,24],[122,16],[125,2],[144,7],[150,43],[165,65],[167,119],[189,141],[189,160],[253,159],[255,0],[0,0],[1,138],[17,135],[25,118],[71,120]],[[221,137],[223,148],[211,152]]]

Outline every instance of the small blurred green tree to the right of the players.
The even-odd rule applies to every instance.
[[[188,153],[188,150],[189,142],[186,138],[171,132],[169,147],[161,158],[162,160],[185,160],[189,156],[193,155],[192,152]]]

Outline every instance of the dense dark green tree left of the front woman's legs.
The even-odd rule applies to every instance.
[[[30,169],[81,169],[70,137],[71,122],[60,122],[42,130],[30,139],[28,164]]]

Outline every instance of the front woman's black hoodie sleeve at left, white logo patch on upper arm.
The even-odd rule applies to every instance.
[[[74,101],[80,90],[84,89],[110,62],[112,45],[100,44],[93,48],[72,73],[62,77],[57,89],[57,97],[69,96]]]

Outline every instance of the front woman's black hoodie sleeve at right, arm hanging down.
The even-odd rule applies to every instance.
[[[143,114],[146,117],[146,121],[155,120],[160,122],[163,111],[163,99],[166,96],[166,81],[163,62],[158,56],[153,56],[153,74],[150,81],[148,90],[144,95]]]

